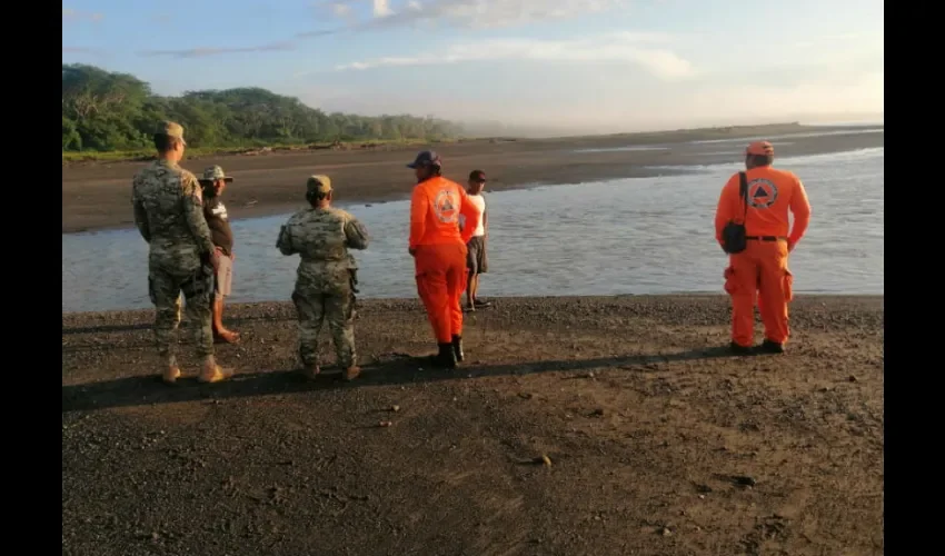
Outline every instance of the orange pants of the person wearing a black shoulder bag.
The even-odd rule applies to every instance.
[[[732,339],[736,344],[754,345],[756,302],[765,338],[776,344],[787,341],[787,304],[794,298],[794,276],[787,269],[785,241],[748,240],[744,251],[729,257],[725,291],[732,296]]]

